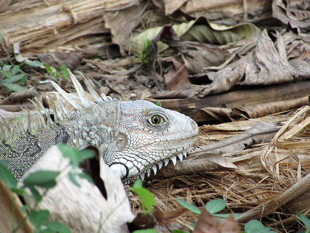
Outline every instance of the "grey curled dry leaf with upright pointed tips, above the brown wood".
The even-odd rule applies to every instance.
[[[227,91],[245,76],[243,85],[267,85],[293,81],[297,71],[286,58],[282,36],[278,35],[277,49],[263,31],[257,41],[256,48],[238,62],[217,71],[214,82],[204,91],[204,96]]]

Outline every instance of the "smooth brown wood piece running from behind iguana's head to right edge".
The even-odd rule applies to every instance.
[[[252,104],[290,100],[310,95],[310,81],[300,80],[292,83],[274,84],[269,86],[254,86],[252,89],[231,91],[209,95],[206,97],[191,97],[187,99],[155,100],[148,98],[153,103],[160,101],[164,108],[181,112],[193,117],[197,110],[203,107],[236,108]]]

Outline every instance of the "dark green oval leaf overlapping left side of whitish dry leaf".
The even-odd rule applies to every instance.
[[[25,178],[24,185],[51,188],[56,185],[55,179],[58,174],[58,171],[36,171]]]

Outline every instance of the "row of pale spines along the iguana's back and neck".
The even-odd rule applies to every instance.
[[[91,84],[88,82],[88,80],[85,78],[85,76],[79,72],[82,75],[83,81],[95,102],[89,100],[86,92],[83,90],[77,78],[72,74],[69,69],[68,72],[78,95],[65,92],[57,83],[53,81],[47,80],[40,82],[51,83],[55,87],[58,92],[53,91],[53,93],[55,94],[57,101],[51,98],[50,93],[47,93],[47,99],[50,102],[50,106],[49,109],[46,109],[43,104],[36,98],[34,98],[35,101],[30,100],[31,103],[34,105],[36,111],[30,112],[29,109],[22,109],[27,116],[27,130],[24,129],[18,117],[15,117],[15,119],[13,120],[14,122],[11,122],[11,120],[8,122],[0,116],[0,118],[2,118],[2,122],[4,122],[3,124],[0,124],[0,144],[2,141],[6,141],[21,134],[31,133],[34,130],[50,126],[54,124],[54,122],[57,123],[65,118],[71,117],[75,113],[75,111],[69,111],[66,108],[63,98],[67,100],[76,110],[92,107],[96,103],[103,104],[107,101],[115,101],[115,99],[107,97],[104,94],[101,94],[100,97],[93,89]],[[78,103],[76,100],[80,101],[80,103]],[[53,117],[51,117],[51,115],[53,115]],[[44,116],[46,116],[46,120]],[[34,118],[36,118],[36,120],[34,120]]]

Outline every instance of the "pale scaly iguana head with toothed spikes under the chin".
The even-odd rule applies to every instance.
[[[123,183],[156,173],[169,160],[182,160],[197,139],[198,126],[190,117],[146,100],[122,101],[116,140],[106,146],[103,159]]]

